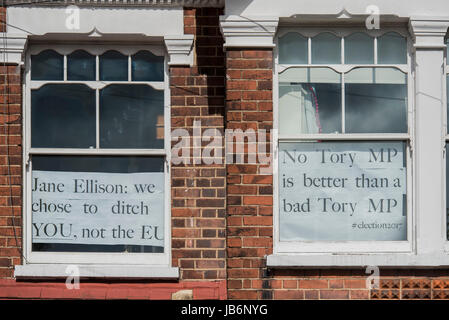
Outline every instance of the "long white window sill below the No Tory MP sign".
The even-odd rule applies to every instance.
[[[447,268],[447,254],[272,254],[269,268]]]

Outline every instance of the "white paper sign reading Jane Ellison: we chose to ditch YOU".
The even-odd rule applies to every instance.
[[[164,173],[33,171],[33,243],[164,246]]]

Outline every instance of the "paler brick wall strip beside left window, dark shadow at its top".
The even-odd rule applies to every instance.
[[[170,68],[172,130],[192,133],[194,121],[201,121],[202,131],[223,132],[225,58],[220,14],[222,9],[216,8],[184,10],[184,31],[195,35],[195,64]],[[225,279],[225,165],[190,160],[190,164],[172,165],[173,266],[181,268],[183,280]]]

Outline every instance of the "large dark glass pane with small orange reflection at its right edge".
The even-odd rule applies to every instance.
[[[147,85],[100,91],[101,148],[164,148],[164,92]]]

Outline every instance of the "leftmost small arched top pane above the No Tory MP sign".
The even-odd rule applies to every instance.
[[[307,64],[309,61],[307,42],[307,38],[296,32],[289,32],[279,38],[279,63]]]

